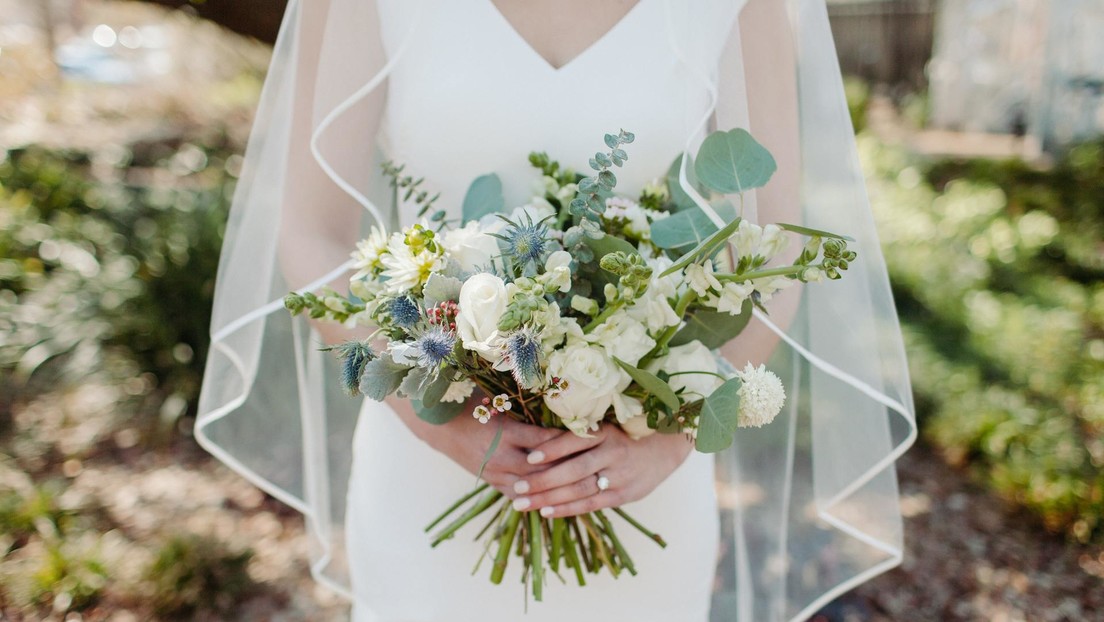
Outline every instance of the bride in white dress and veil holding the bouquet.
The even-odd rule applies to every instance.
[[[835,62],[824,0],[293,0],[227,223],[200,442],[305,514],[312,572],[354,620],[802,620],[900,563],[893,461],[915,425]],[[415,220],[383,160],[455,218],[488,172],[524,204],[531,150],[585,170],[629,129],[618,189],[638,192],[733,127],[778,162],[744,215],[846,232],[859,264],[842,287],[789,288],[723,349],[769,360],[789,401],[715,461],[679,435],[506,423],[482,477],[514,507],[624,505],[670,542],[625,530],[639,576],[552,580],[522,618],[520,588],[470,576],[477,542],[431,549],[422,530],[475,484],[493,430],[341,396],[319,347],[367,333],[293,320],[280,298],[347,291],[368,226]]]

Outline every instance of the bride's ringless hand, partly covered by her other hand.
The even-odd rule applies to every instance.
[[[410,400],[392,397],[388,398],[388,403],[415,435],[473,475],[479,474],[479,466],[501,425],[502,439],[484,467],[482,479],[510,498],[517,496],[516,482],[549,468],[548,464],[527,460],[533,447],[564,435],[574,436],[563,430],[529,425],[503,415],[496,417],[488,423],[479,423],[471,417],[471,410],[481,403],[477,398],[468,400],[460,414],[443,425],[418,419]]]

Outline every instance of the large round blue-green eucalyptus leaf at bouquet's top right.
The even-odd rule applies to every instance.
[[[724,194],[760,188],[776,169],[771,152],[739,127],[707,136],[694,161],[698,179]]]

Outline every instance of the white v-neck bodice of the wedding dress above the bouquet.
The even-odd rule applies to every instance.
[[[389,22],[412,10],[380,0],[384,46],[399,36]],[[423,15],[388,78],[380,129],[389,157],[424,176],[440,192],[437,205],[458,215],[468,185],[480,175],[502,179],[507,207],[526,203],[539,176],[530,151],[546,151],[577,171],[604,148],[602,137],[636,134],[617,171],[629,193],[666,173],[709,95],[687,75],[668,45],[664,0],[638,3],[602,38],[553,67],[490,0],[438,2]],[[403,224],[414,219],[403,210]]]

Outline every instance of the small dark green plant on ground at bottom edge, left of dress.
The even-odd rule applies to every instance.
[[[146,571],[150,602],[159,615],[194,619],[227,614],[257,591],[248,573],[252,550],[227,551],[217,539],[174,536],[157,551]]]

